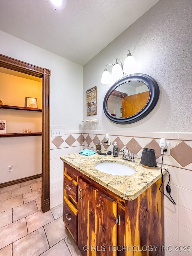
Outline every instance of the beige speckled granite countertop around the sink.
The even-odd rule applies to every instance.
[[[123,160],[122,155],[118,157],[98,154],[85,156],[75,153],[63,155],[60,159],[125,200],[134,200],[161,178],[161,168],[145,168],[140,164],[140,159],[135,159],[136,162],[132,163]],[[106,161],[130,166],[136,170],[136,173],[128,176],[118,176],[118,170],[117,175],[111,175],[95,168],[95,164]],[[163,169],[163,174],[165,173],[166,170]]]

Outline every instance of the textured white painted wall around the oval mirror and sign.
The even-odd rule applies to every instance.
[[[97,86],[98,114],[91,116],[99,118],[96,130],[192,131],[191,8],[191,1],[159,1],[83,66],[83,118],[88,118],[86,90]],[[124,62],[128,50],[136,59],[138,73],[148,74],[158,82],[160,98],[144,119],[117,125],[103,111],[104,96],[110,85],[101,84],[101,75],[105,66],[114,63],[117,57]]]

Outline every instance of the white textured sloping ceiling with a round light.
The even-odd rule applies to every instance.
[[[85,65],[158,0],[0,0],[1,30]]]

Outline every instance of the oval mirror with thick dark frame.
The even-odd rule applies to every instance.
[[[104,113],[117,124],[131,124],[147,116],[158,102],[157,82],[146,74],[119,79],[104,98]]]

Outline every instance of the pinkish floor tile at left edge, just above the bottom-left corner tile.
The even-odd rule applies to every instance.
[[[27,235],[27,225],[26,225],[25,218],[22,218],[19,221],[13,222],[5,227],[1,227],[1,229],[0,229],[0,239],[1,239],[0,248],[3,248],[26,235]]]

